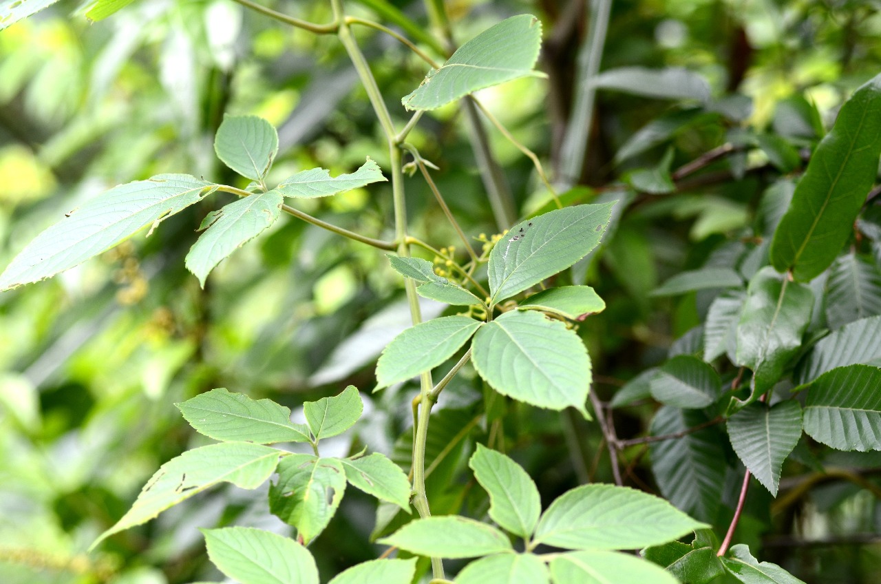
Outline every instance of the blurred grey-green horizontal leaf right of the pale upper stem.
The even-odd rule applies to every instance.
[[[600,89],[613,89],[662,100],[692,99],[707,102],[710,98],[707,79],[682,67],[619,67],[597,75],[593,79],[593,85]]]

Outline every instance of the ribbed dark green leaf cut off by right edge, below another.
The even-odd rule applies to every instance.
[[[881,450],[881,369],[848,365],[808,386],[804,431],[837,450]]]

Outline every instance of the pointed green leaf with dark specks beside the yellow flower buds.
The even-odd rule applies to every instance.
[[[586,256],[600,243],[614,205],[570,206],[516,224],[490,252],[491,302],[535,286]]]

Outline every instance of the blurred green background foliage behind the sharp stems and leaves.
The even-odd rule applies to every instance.
[[[325,2],[264,4],[315,22],[330,18]],[[418,0],[348,4],[370,18],[400,12],[430,32]],[[543,20],[540,67],[548,79],[522,79],[480,97],[547,168],[559,164],[576,55],[588,33],[585,4],[447,3],[459,42],[513,14]],[[706,79],[698,86],[707,95],[598,91],[580,181],[586,186],[566,200],[632,202],[602,249],[559,283],[587,281],[608,304],[580,329],[603,401],[669,354],[700,347],[693,327],[714,296],[656,298],[652,289],[682,270],[756,264],[749,258],[766,254],[761,236],[781,210],[761,193],[803,167],[802,149],[816,143],[855,86],[881,71],[879,7],[864,0],[613,3],[603,70],[684,67],[700,76],[688,79]],[[0,266],[61,213],[117,183],[187,172],[244,187],[213,155],[224,113],[255,114],[278,126],[281,150],[270,182],[317,166],[349,172],[367,155],[388,167],[373,112],[335,38],[289,29],[229,0],[142,0],[94,24],[83,14],[84,3],[63,1],[0,32]],[[409,116],[399,99],[418,85],[424,64],[376,31],[359,29],[358,40],[403,124]],[[541,207],[544,193],[529,161],[489,132],[518,214]],[[495,232],[463,114],[448,107],[425,116],[411,141],[440,167],[435,181],[466,233]],[[735,152],[696,176],[670,176],[670,168],[723,144]],[[426,184],[417,176],[407,189],[413,233],[438,248],[455,243]],[[224,202],[206,198],[149,238],[136,236],[51,281],[0,295],[4,584],[217,580],[197,527],[234,523],[287,533],[268,515],[262,493],[229,488],[84,555],[162,462],[203,443],[174,402],[212,387],[271,397],[296,411],[302,401],[352,383],[366,392],[366,416],[355,438],[327,447],[349,453],[367,445],[409,468],[415,387],[369,394],[375,357],[409,325],[400,278],[374,249],[291,220],[227,259],[201,289],[183,257],[204,214]],[[301,205],[360,233],[393,236],[388,184]],[[855,251],[866,251],[877,270],[871,242],[857,242]],[[443,308],[424,306],[428,316]],[[434,513],[485,512],[482,491],[463,472],[470,438],[489,439],[521,461],[545,504],[576,483],[611,481],[596,423],[498,397],[484,401],[478,378],[463,371],[431,426]],[[727,373],[730,380],[735,371]],[[639,378],[625,389],[645,395]],[[646,431],[654,415],[656,406],[635,403],[615,410],[619,438]],[[734,460],[727,438],[718,439],[722,456]],[[784,471],[797,477],[816,461],[809,444],[796,453]],[[656,492],[645,454],[644,446],[624,452],[625,483]],[[771,516],[767,494],[754,489],[737,541],[808,582],[881,582],[873,535],[881,508],[871,472],[881,458],[834,456],[823,462],[868,469],[862,486],[832,480],[796,492],[784,479]],[[724,513],[740,481],[729,474]],[[399,520],[350,491],[313,546],[324,577],[373,558],[367,536]]]

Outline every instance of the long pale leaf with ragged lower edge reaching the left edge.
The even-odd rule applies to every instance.
[[[148,225],[155,228],[216,188],[189,175],[159,175],[116,186],[28,243],[0,274],[0,291],[78,266]]]

